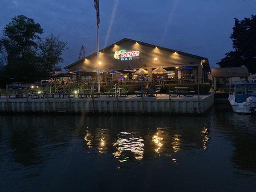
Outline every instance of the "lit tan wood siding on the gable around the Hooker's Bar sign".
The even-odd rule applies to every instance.
[[[126,51],[140,51],[138,60],[117,60],[114,58],[115,51],[125,49]],[[157,60],[154,60],[157,58]],[[201,66],[201,59],[179,54],[172,51],[163,50],[160,48],[153,48],[140,43],[132,41],[123,41],[118,45],[105,49],[99,53],[99,61],[101,61],[100,68],[106,71],[122,70],[127,66],[132,66],[134,69],[140,67],[144,69],[154,69],[158,66],[167,67],[182,67],[182,66]],[[74,70],[90,70],[97,67],[96,54],[88,57],[73,66],[68,67],[69,71]]]

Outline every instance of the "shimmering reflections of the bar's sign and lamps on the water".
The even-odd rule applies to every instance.
[[[157,154],[168,155],[171,156],[172,161],[177,162],[177,158],[174,157],[175,153],[207,149],[209,137],[206,123],[202,123],[202,129],[193,130],[190,137],[187,137],[184,131],[187,130],[158,127],[155,132],[146,128],[136,129],[136,132],[119,132],[107,128],[87,127],[84,140],[89,152],[96,148],[98,153],[112,154],[120,162],[142,160],[145,158],[145,153],[147,158],[157,156]]]

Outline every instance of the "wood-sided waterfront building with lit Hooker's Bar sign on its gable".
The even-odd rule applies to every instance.
[[[208,59],[170,48],[163,48],[124,38],[99,51],[100,69],[122,72],[127,66],[135,70],[143,68],[152,79],[152,71],[161,67],[168,71],[166,78],[179,79],[185,75],[197,75],[201,83],[207,82],[210,72]],[[185,67],[185,68],[184,68]],[[98,68],[97,53],[93,53],[65,67],[69,72],[90,71]],[[180,71],[180,69],[189,69]],[[187,78],[187,77],[186,77]]]

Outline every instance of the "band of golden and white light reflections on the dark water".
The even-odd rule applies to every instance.
[[[197,123],[191,123],[190,126],[179,120],[172,120],[169,124],[167,119],[162,119],[160,124],[165,127],[158,127],[158,120],[146,120],[143,120],[144,124],[130,124],[129,118],[119,118],[123,126],[115,127],[104,119],[101,122],[99,118],[97,125],[85,128],[83,137],[88,153],[108,153],[120,162],[146,160],[158,154],[171,157],[173,162],[177,162],[175,154],[179,152],[207,148],[208,126],[203,119],[195,120]],[[104,129],[99,128],[103,125]]]

